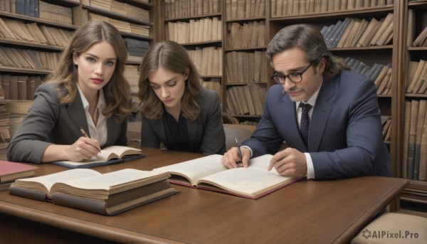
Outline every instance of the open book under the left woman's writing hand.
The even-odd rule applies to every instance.
[[[65,166],[71,169],[92,168],[108,164],[120,164],[145,157],[141,149],[124,146],[110,146],[101,150],[96,157],[83,161],[54,161],[52,164]]]

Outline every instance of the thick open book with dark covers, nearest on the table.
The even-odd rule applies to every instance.
[[[167,173],[122,169],[100,174],[93,169],[70,169],[46,176],[17,179],[9,187],[16,196],[115,215],[177,193]]]

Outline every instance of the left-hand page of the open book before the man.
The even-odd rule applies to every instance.
[[[188,179],[187,184],[196,185],[196,181],[209,174],[215,174],[219,171],[225,171],[226,168],[221,164],[220,154],[213,154],[199,159],[192,159],[178,164],[172,164],[161,168],[154,169],[154,171],[169,172],[174,175],[183,176]]]

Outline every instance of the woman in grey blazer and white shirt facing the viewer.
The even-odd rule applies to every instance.
[[[127,52],[110,23],[80,26],[7,149],[9,161],[82,161],[102,147],[126,145],[130,85]],[[87,136],[85,137],[85,133]]]

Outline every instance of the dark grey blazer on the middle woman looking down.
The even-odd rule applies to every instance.
[[[201,90],[201,112],[196,120],[187,120],[189,143],[199,145],[204,154],[223,154],[226,152],[226,134],[222,124],[218,92]],[[160,143],[168,147],[164,131],[164,117],[148,120],[142,115],[141,146],[159,148]]]

